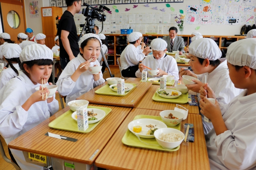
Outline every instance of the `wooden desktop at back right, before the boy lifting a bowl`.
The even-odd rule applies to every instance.
[[[141,78],[128,78],[128,80],[133,80],[133,81],[140,81]],[[141,108],[141,109],[154,109],[154,110],[174,110],[174,107],[176,107],[176,104],[172,103],[164,103],[164,102],[155,102],[152,97],[154,96],[156,90],[160,86],[158,85],[152,85],[146,94],[141,98],[141,100],[136,104],[135,108]],[[174,88],[174,86],[167,86],[166,88]],[[190,90],[189,94],[195,94]],[[185,107],[188,109],[188,113],[194,113],[194,114],[199,114],[199,107],[198,106],[189,106],[189,104],[179,104],[180,106]],[[181,107],[179,107],[182,109]]]

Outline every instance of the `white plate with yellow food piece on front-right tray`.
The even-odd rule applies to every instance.
[[[154,138],[154,135],[146,135],[148,133],[148,130],[150,130],[150,127],[146,127],[146,125],[156,125],[155,128],[161,129],[167,127],[166,124],[164,124],[162,121],[156,120],[156,119],[137,119],[134,121],[131,121],[128,124],[128,129],[135,135],[135,132],[133,131],[134,126],[141,126],[142,131],[138,134],[139,137],[142,138]]]

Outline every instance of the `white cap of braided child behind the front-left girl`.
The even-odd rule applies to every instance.
[[[21,48],[18,44],[7,43],[2,47],[1,52],[6,59],[19,58]]]

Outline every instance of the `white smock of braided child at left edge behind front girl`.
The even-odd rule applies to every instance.
[[[12,64],[17,70],[20,70],[19,64]],[[9,65],[7,69],[3,70],[0,74],[0,90],[11,80],[12,78],[18,76],[16,72]]]

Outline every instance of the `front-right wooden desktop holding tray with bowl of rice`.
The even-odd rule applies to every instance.
[[[159,111],[132,109],[122,125],[95,161],[96,166],[111,170],[210,170],[202,119],[200,115],[188,114],[182,121],[194,124],[195,142],[189,146],[180,145],[174,152],[129,147],[122,143],[122,137],[136,115],[159,115]]]

